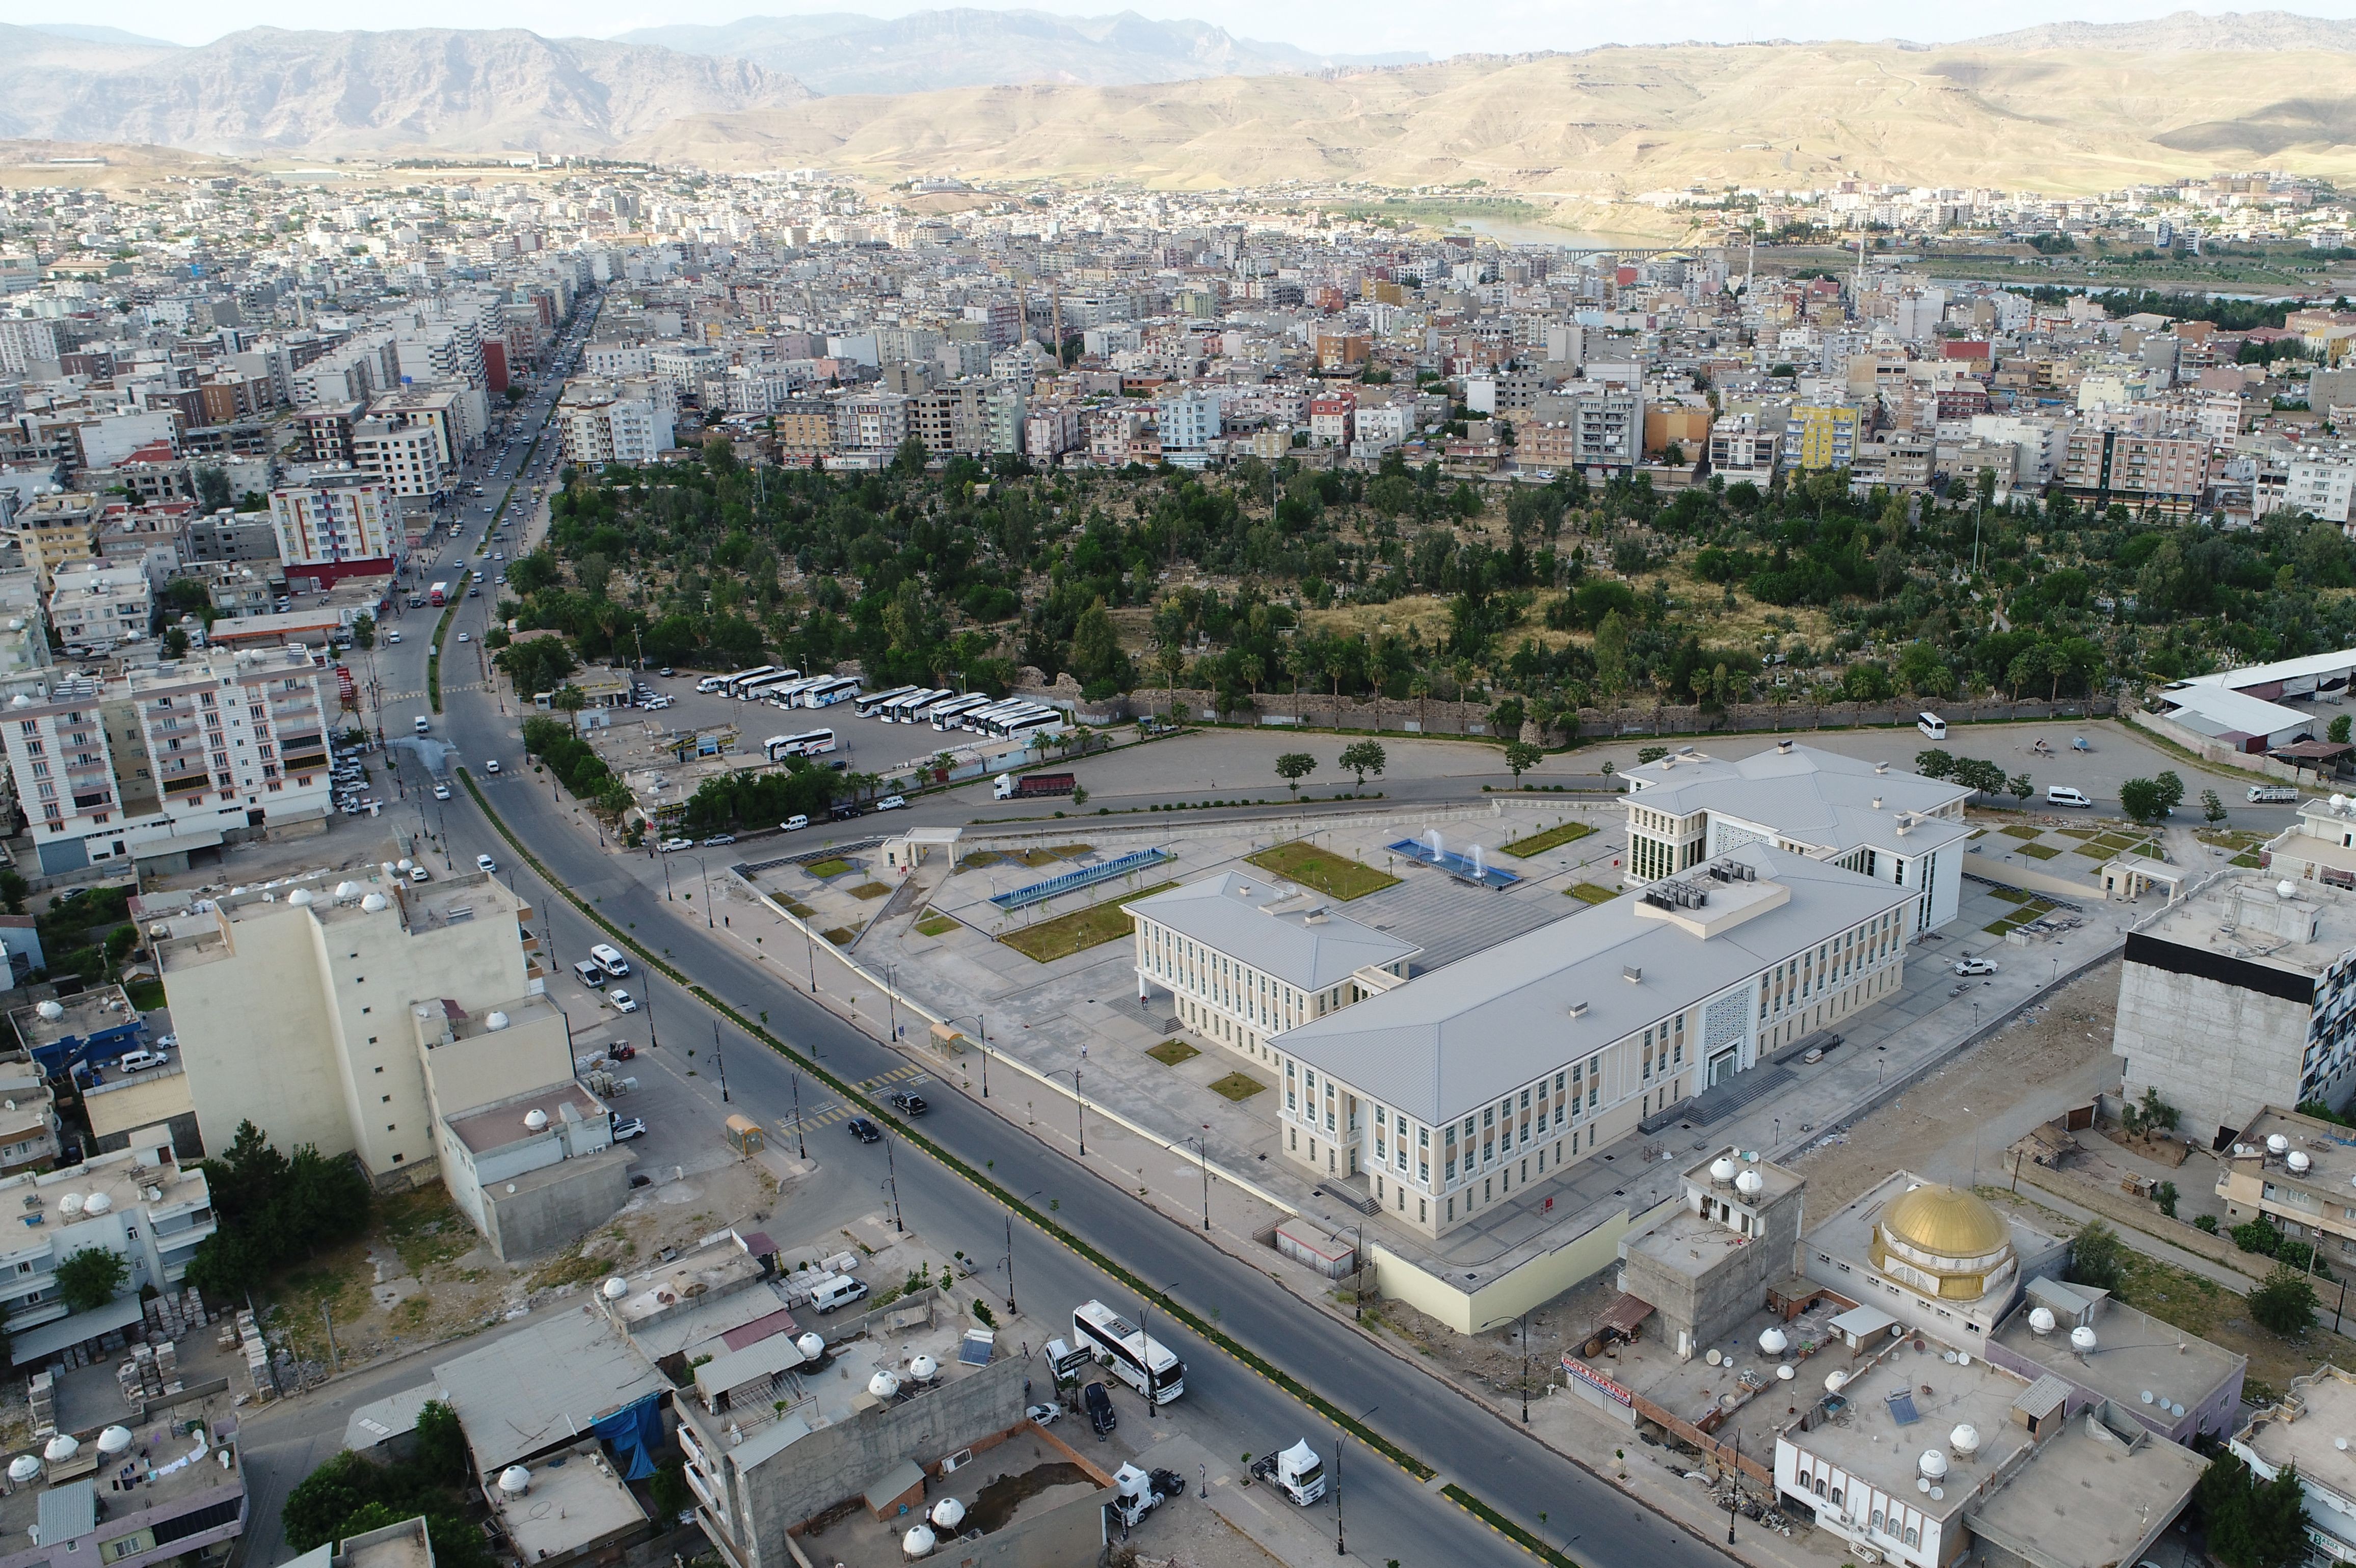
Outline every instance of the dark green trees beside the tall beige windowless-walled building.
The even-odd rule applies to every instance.
[[[372,1191],[356,1161],[313,1144],[287,1158],[250,1121],[205,1161],[205,1182],[219,1229],[188,1260],[188,1283],[217,1302],[240,1300],[280,1267],[368,1229]]]

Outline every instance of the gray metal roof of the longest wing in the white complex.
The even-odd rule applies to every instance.
[[[1442,1123],[1918,897],[1760,843],[1718,859],[1748,862],[1791,899],[1699,937],[1619,897],[1272,1043],[1416,1121]],[[1628,968],[1642,979],[1626,979]],[[1586,1012],[1571,1017],[1579,1003]]]

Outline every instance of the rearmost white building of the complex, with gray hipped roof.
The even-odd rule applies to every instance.
[[[1793,742],[1734,760],[1685,746],[1623,777],[1628,881],[1772,843],[1913,890],[1911,932],[1955,918],[1970,838],[1963,805],[1972,798],[1960,784]]]

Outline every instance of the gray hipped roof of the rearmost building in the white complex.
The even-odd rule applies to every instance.
[[[1732,760],[1666,756],[1626,777],[1635,798],[1654,810],[1680,817],[1710,810],[1835,855],[1868,845],[1887,855],[1927,855],[1970,833],[1946,819],[1918,819],[1904,838],[1897,831],[1901,815],[1946,810],[1970,798],[1970,789],[1899,768],[1875,772],[1875,763],[1814,746],[1767,746]]]

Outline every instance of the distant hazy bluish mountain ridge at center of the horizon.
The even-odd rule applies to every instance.
[[[876,19],[851,12],[744,16],[726,26],[662,26],[620,42],[747,59],[789,71],[818,92],[935,92],[1013,82],[1178,82],[1402,64],[1423,57],[1312,54],[1235,38],[1206,21],[1053,16],[1048,12],[940,9]]]

